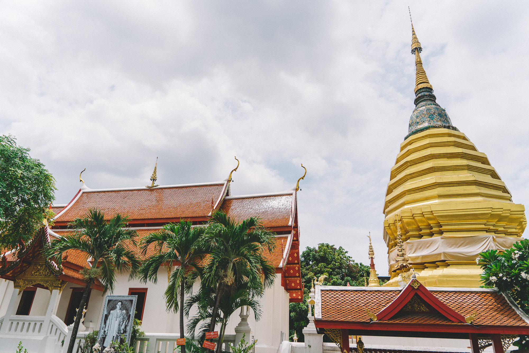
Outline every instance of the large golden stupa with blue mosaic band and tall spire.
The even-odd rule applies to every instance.
[[[386,192],[384,240],[391,279],[385,286],[398,286],[396,277],[413,268],[428,287],[479,287],[476,258],[519,240],[527,223],[525,208],[512,202],[487,156],[436,103],[421,52],[412,24],[416,108]],[[408,268],[397,263],[398,223]]]

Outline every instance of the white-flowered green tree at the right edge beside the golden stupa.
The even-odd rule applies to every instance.
[[[516,242],[504,252],[487,250],[476,262],[483,269],[482,287],[498,288],[499,293],[513,297],[520,308],[529,314],[529,240]],[[513,342],[519,349],[529,349],[529,336],[521,335]]]

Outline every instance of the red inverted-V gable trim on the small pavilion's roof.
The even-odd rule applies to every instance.
[[[413,286],[416,286],[417,284],[418,287],[414,288]],[[450,321],[465,322],[463,315],[455,312],[448,305],[444,304],[439,299],[437,299],[430,292],[430,290],[426,289],[426,287],[419,283],[419,281],[416,279],[412,279],[411,281],[409,281],[408,285],[404,287],[398,297],[396,297],[393,302],[389,303],[388,306],[386,306],[377,314],[377,319],[379,321],[390,320],[391,317],[397,314],[399,310],[402,309],[404,305],[406,305],[415,294],[423,298],[426,303],[430,304],[435,310],[437,310]]]

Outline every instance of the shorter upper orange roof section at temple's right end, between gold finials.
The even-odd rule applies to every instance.
[[[243,220],[261,218],[265,227],[288,226],[292,214],[293,194],[226,197],[221,210],[230,217]]]

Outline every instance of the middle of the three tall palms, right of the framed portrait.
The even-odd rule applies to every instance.
[[[145,236],[141,241],[141,253],[147,254],[151,244],[154,245],[155,253],[142,264],[139,276],[144,282],[147,280],[156,283],[158,280],[158,269],[162,264],[172,266],[178,263],[179,268],[171,273],[169,284],[165,292],[167,310],[178,312],[178,308],[184,308],[184,292],[186,290],[186,278],[190,273],[200,273],[200,261],[207,253],[207,246],[202,243],[205,227],[192,227],[191,222],[181,220],[180,223],[170,223],[163,226],[157,233]],[[191,285],[188,286],[188,290]],[[178,303],[180,299],[180,305]],[[180,310],[180,338],[184,336],[184,310]],[[186,346],[181,346],[181,353],[186,352]]]

